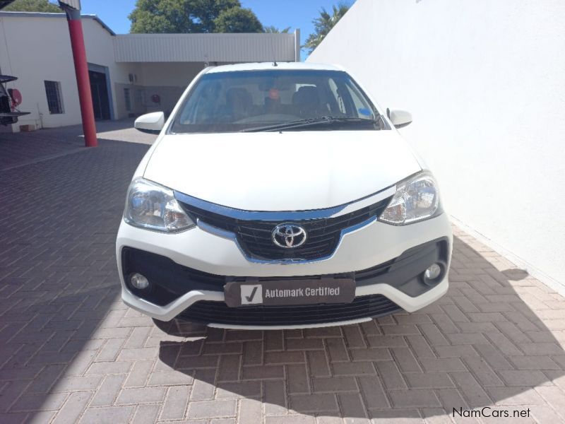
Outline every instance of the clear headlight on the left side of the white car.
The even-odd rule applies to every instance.
[[[147,179],[134,179],[128,190],[124,220],[134,227],[179,232],[194,227],[171,189]]]

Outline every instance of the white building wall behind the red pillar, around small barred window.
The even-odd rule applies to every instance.
[[[107,66],[112,86],[129,83],[129,72],[138,65],[116,64],[112,35],[93,19],[83,18],[82,22],[88,62]],[[49,128],[81,122],[69,27],[64,16],[0,16],[0,67],[4,73],[18,77],[18,81],[8,83],[8,88],[20,90],[23,102],[19,109],[31,112],[18,119],[18,124],[13,125],[15,130],[23,124]],[[49,114],[45,80],[61,83],[63,114]],[[116,95],[112,88],[114,112]]]

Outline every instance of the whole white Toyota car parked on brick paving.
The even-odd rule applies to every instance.
[[[117,235],[122,299],[157,320],[246,329],[413,312],[448,288],[439,189],[336,66],[204,69],[138,166]],[[396,127],[396,128],[395,128]]]

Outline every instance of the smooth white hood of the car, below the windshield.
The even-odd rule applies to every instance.
[[[167,134],[145,178],[248,211],[330,208],[420,171],[396,131]]]

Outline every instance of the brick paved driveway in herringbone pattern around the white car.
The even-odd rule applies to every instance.
[[[121,304],[114,259],[147,146],[74,149],[0,171],[0,423],[565,420],[564,298],[461,232],[448,295],[415,314],[165,334]]]

